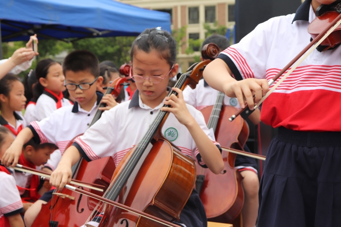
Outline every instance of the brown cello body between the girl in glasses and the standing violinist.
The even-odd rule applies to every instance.
[[[201,110],[206,123],[209,121],[212,110],[213,106]],[[243,150],[249,135],[249,128],[241,116],[237,117],[233,122],[228,120],[229,116],[234,114],[236,110],[232,106],[223,106],[221,108],[215,137],[221,147]],[[209,221],[231,223],[241,212],[244,191],[241,185],[241,174],[237,169],[234,169],[236,154],[223,151],[222,156],[225,168],[221,174],[214,174],[209,170],[204,170],[205,177],[200,198]]]

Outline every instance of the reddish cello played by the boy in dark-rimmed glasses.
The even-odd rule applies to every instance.
[[[122,70],[127,66],[122,66]],[[119,77],[113,81],[113,83],[106,89],[106,94],[111,94],[117,97],[120,95],[120,91],[124,85],[127,85],[127,77]],[[114,87],[111,87],[114,86]],[[100,111],[100,107],[105,107],[105,103],[98,105],[96,114],[92,119],[90,126],[96,123],[100,118],[103,111]],[[71,146],[73,139],[69,142],[67,147]],[[99,168],[100,167],[100,168]],[[112,157],[103,158],[94,162],[88,163],[84,159],[73,167],[73,178],[86,183],[93,183],[103,186],[103,189],[107,189],[110,185],[112,174],[115,170],[115,163]],[[96,170],[96,171],[94,171]],[[103,192],[84,189],[99,196],[103,195]],[[97,206],[97,200],[89,197],[83,197],[75,191],[63,189],[58,192],[54,192],[51,200],[42,205],[39,215],[36,217],[32,224],[32,227],[69,227],[69,226],[81,226],[84,221],[84,217],[89,216]],[[47,215],[49,214],[49,215]]]

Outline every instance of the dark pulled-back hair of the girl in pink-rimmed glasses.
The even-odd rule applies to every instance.
[[[146,29],[134,40],[130,52],[131,61],[136,50],[145,53],[156,50],[162,58],[167,60],[170,67],[177,60],[177,41],[167,31],[160,28]]]

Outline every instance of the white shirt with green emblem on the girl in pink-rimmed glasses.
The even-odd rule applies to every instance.
[[[137,90],[130,101],[104,112],[100,120],[75,139],[73,145],[87,161],[112,156],[117,166],[123,156],[138,143],[162,105],[163,102],[152,109],[143,104]],[[219,143],[213,141],[210,136],[201,112],[191,105],[187,105],[187,108],[201,129],[220,148]],[[204,165],[191,134],[174,114],[169,114],[161,132],[165,138],[179,147],[182,153]]]

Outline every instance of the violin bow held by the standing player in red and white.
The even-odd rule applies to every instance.
[[[305,53],[305,55],[292,67],[267,93],[261,98],[261,101],[259,101],[257,104],[255,104],[254,109],[256,110],[261,103],[283,82],[283,80],[288,77],[301,63],[302,61],[307,58],[320,44],[323,42],[324,39],[326,39],[340,24],[341,24],[341,14],[333,20],[331,25],[334,24],[334,26],[327,26],[323,32],[320,33],[316,38],[314,38],[301,52],[298,54],[293,60],[289,62],[282,70],[279,72],[274,78],[269,80],[269,87],[283,74],[287,69],[290,68],[297,60],[300,59]],[[314,45],[314,43],[316,43]],[[314,45],[314,46],[313,46]],[[311,48],[313,46],[313,48]],[[311,49],[310,49],[311,48]],[[310,50],[309,50],[310,49]],[[309,51],[308,51],[309,50]],[[236,119],[237,116],[239,116],[242,112],[244,112],[247,109],[247,104],[245,104],[244,109],[240,109],[236,112],[236,114],[232,115],[229,120],[233,121]],[[248,110],[246,110],[246,114],[248,114]]]

